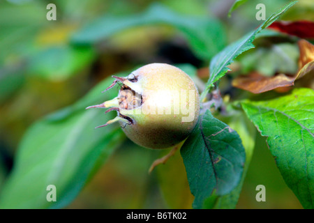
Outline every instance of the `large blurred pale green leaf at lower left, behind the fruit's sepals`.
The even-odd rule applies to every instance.
[[[31,126],[0,194],[0,208],[62,208],[77,196],[99,163],[125,139],[118,125],[95,129],[114,113],[85,110],[114,98],[115,89],[100,93],[111,83],[106,79],[75,105]],[[57,187],[57,202],[46,200],[47,185]]]

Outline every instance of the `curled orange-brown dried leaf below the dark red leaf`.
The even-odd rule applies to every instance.
[[[258,72],[252,72],[246,76],[239,76],[232,81],[232,86],[252,93],[263,93],[278,88],[293,86],[296,79],[304,75],[314,74],[314,45],[306,40],[298,42],[300,57],[299,70],[296,75],[288,76],[285,74],[275,75],[273,77],[264,77]]]

